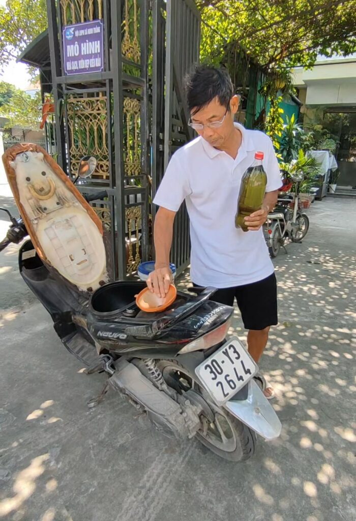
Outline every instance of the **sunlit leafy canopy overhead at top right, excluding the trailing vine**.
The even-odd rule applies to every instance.
[[[318,53],[356,49],[356,0],[198,0],[201,54],[219,62],[233,42],[267,70],[310,67]]]

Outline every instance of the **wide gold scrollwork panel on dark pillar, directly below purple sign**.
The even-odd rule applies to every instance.
[[[93,178],[108,179],[110,172],[106,96],[71,96],[66,103],[72,175],[77,175],[81,158],[90,154],[98,161]]]

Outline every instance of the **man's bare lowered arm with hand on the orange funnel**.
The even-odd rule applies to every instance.
[[[154,241],[156,250],[155,271],[147,279],[147,286],[153,293],[166,296],[171,283],[172,272],[169,267],[169,255],[173,238],[173,223],[176,212],[160,207],[154,226]]]

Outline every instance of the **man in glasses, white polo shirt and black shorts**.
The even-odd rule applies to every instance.
[[[277,289],[274,269],[264,241],[262,225],[277,201],[282,186],[270,138],[234,123],[238,96],[223,69],[199,66],[187,81],[189,125],[197,139],[172,156],[157,191],[154,240],[155,271],[147,285],[164,296],[171,280],[169,257],[174,216],[185,200],[190,218],[190,276],[196,286],[218,288],[213,300],[237,305],[248,329],[248,351],[258,363],[277,324]],[[235,228],[241,178],[255,153],[264,153],[267,185],[260,210],[246,217],[248,232]],[[264,389],[272,398],[273,389]]]

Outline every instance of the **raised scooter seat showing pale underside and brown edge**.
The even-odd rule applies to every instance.
[[[103,226],[52,157],[21,143],[3,155],[16,204],[37,253],[80,290],[108,281]]]

